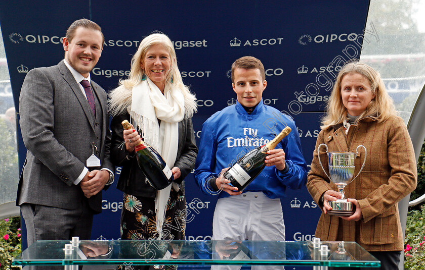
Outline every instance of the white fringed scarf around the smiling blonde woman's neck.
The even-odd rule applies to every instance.
[[[179,143],[179,122],[185,115],[185,98],[182,91],[179,88],[171,88],[164,90],[162,94],[159,88],[146,78],[133,87],[129,114],[133,126],[139,127],[143,140],[162,156],[170,169],[173,168]],[[158,124],[158,119],[161,124]],[[176,183],[172,185],[175,190],[179,190]],[[156,192],[158,239],[162,238],[165,209],[172,185]]]

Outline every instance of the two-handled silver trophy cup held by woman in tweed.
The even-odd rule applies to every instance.
[[[328,165],[329,165],[329,175],[326,174],[325,169],[323,168],[322,161],[320,160],[320,147],[324,145],[326,147],[326,153],[328,155]],[[364,148],[364,160],[362,168],[360,168],[359,173],[356,177],[353,178],[354,175],[354,159],[357,157],[359,147]],[[353,203],[349,202],[344,197],[344,188],[351,183],[354,179],[356,179],[361,171],[363,170],[364,164],[366,162],[366,147],[363,145],[359,145],[356,148],[356,153],[353,152],[328,152],[328,147],[326,144],[322,143],[317,147],[317,154],[319,155],[319,163],[322,167],[323,172],[326,176],[332,181],[337,187],[339,193],[341,193],[341,199],[337,199],[336,201],[328,201],[332,210],[327,211],[332,215],[339,215],[341,217],[349,217],[355,211],[353,207]]]

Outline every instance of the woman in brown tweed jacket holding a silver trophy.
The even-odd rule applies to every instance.
[[[345,188],[355,206],[350,217],[328,213],[328,201],[341,198],[319,164],[317,147],[329,152],[367,149],[360,175]],[[325,147],[320,158],[329,172]],[[355,159],[357,175],[364,150]],[[416,160],[407,128],[397,116],[379,73],[362,63],[349,63],[339,72],[313,153],[307,188],[322,209],[315,236],[325,241],[355,241],[381,261],[381,269],[398,269],[403,250],[397,203],[416,188]],[[339,268],[338,268],[339,269]]]

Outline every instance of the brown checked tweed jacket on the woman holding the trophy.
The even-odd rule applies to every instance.
[[[356,241],[368,251],[403,250],[397,202],[416,188],[416,160],[404,121],[400,117],[378,123],[365,117],[351,125],[345,135],[342,124],[321,130],[313,153],[307,188],[320,207],[321,196],[329,189],[338,190],[320,167],[317,147],[325,143],[329,152],[355,152],[358,145],[367,150],[366,163],[360,175],[345,188],[346,198],[358,200],[363,219],[358,222],[324,214],[320,216],[316,237],[327,241]],[[357,175],[364,160],[364,149],[355,160]],[[320,160],[329,172],[325,147]],[[329,173],[328,173],[329,174]]]

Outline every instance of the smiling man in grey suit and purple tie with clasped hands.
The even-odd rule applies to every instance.
[[[65,59],[25,77],[19,97],[22,138],[28,149],[19,180],[28,246],[36,240],[90,239],[101,190],[113,182],[105,91],[90,79],[104,37],[81,19],[63,39]]]

